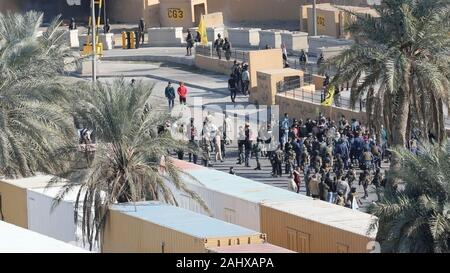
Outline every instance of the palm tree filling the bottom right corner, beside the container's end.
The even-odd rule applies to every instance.
[[[450,251],[450,142],[422,146],[418,155],[394,151],[400,179],[370,211],[379,217],[377,241],[383,252]]]

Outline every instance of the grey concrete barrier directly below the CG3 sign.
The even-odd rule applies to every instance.
[[[150,46],[183,46],[185,44],[182,27],[155,27],[147,31]]]

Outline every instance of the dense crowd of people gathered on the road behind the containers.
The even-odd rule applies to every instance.
[[[188,136],[190,162],[197,164],[201,157],[202,165],[212,167],[213,161],[223,162],[227,156],[227,146],[232,143],[231,119],[225,116],[221,126],[212,120],[210,115],[205,118],[200,133],[194,119],[188,126],[178,127]],[[278,135],[272,129],[275,126],[279,127]],[[305,186],[308,196],[353,209],[361,205],[358,187],[364,191],[363,199],[368,197],[371,185],[379,194],[378,188],[386,183],[381,163],[390,160],[384,128],[375,133],[345,116],[336,122],[323,115],[303,121],[285,114],[278,122],[261,125],[257,132],[246,123],[238,128],[237,148],[236,165],[262,170],[261,160],[269,160],[271,175],[288,176],[290,190],[299,193]],[[178,158],[184,159],[184,153],[178,151]],[[251,166],[253,160],[256,165]],[[234,167],[229,173],[236,174]]]

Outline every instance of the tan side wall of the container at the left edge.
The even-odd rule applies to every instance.
[[[28,228],[26,190],[0,181],[0,195],[3,220],[19,227]]]

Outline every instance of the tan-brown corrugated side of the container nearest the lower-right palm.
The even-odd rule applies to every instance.
[[[261,205],[261,227],[268,242],[296,252],[368,252],[372,239]]]

